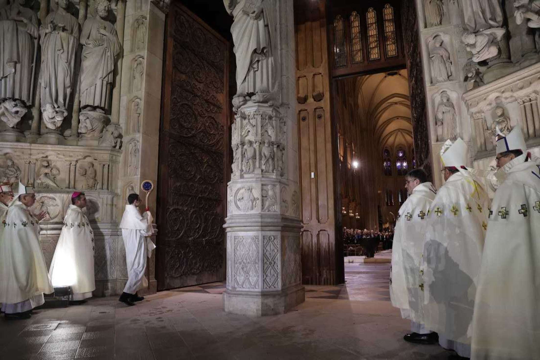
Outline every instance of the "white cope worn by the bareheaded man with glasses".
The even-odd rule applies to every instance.
[[[417,323],[423,323],[420,262],[426,216],[435,194],[431,182],[416,186],[401,206],[394,229],[390,298],[392,305],[401,309],[403,318]]]

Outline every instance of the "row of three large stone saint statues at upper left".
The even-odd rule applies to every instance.
[[[33,102],[38,43],[40,107],[46,127],[58,130],[68,114],[68,101],[78,81],[74,73],[79,44],[83,45],[80,108],[101,113],[110,109],[115,58],[122,47],[114,25],[107,21],[109,1],[96,0],[97,16],[87,18],[82,31],[78,19],[66,10],[70,0],[55,2],[57,10],[40,26],[36,13],[23,6],[24,0],[11,0],[0,9],[0,118],[10,128]]]

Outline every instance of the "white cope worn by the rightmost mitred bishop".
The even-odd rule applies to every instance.
[[[474,359],[540,356],[540,162],[503,166],[491,204],[473,318]]]

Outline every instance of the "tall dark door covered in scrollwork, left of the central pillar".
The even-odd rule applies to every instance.
[[[159,134],[158,290],[225,280],[222,226],[230,173],[229,45],[176,2],[171,4],[166,27]]]

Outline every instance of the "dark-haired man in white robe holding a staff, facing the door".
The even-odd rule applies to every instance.
[[[140,198],[138,194],[127,196],[127,202],[120,221],[122,237],[126,248],[127,283],[119,301],[133,305],[136,301],[144,300],[137,295],[137,290],[148,286],[144,276],[146,271],[146,257],[151,255],[153,243],[146,236],[152,235],[152,215],[146,208],[143,215],[139,213]],[[147,249],[148,248],[148,249]]]

